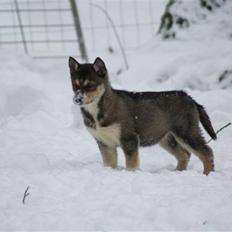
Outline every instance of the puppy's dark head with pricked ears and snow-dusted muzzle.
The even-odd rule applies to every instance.
[[[79,64],[73,57],[69,57],[69,69],[75,94],[74,103],[90,104],[104,94],[107,70],[101,58],[97,57],[93,64]]]

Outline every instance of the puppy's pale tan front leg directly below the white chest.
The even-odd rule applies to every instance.
[[[109,147],[98,141],[97,141],[97,144],[101,151],[104,166],[116,168],[118,165],[116,147]]]

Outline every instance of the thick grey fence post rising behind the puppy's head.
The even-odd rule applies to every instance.
[[[79,42],[80,51],[81,51],[81,58],[84,59],[86,62],[88,62],[88,56],[86,52],[84,36],[82,33],[82,29],[81,29],[81,22],[80,22],[80,18],[78,14],[76,0],[70,0],[70,5],[72,8],[73,21],[75,24],[75,30],[76,30],[76,34],[77,34],[77,38]]]

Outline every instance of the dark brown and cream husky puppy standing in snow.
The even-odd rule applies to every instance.
[[[199,122],[216,140],[204,107],[183,91],[128,92],[113,89],[106,66],[69,58],[74,102],[95,138],[105,166],[117,167],[117,147],[125,154],[126,168],[139,167],[139,146],[159,143],[177,159],[176,170],[186,170],[190,153],[203,163],[204,174],[214,170],[213,152],[202,136]]]

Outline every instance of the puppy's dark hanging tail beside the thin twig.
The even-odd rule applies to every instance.
[[[210,137],[214,140],[217,139],[217,134],[215,133],[213,126],[211,124],[211,121],[209,119],[209,115],[207,114],[206,110],[204,109],[204,107],[198,103],[196,103],[197,105],[197,110],[199,112],[199,116],[200,116],[200,121],[203,125],[203,127],[205,128],[205,130],[207,131],[207,133],[210,135]]]

